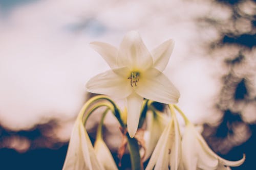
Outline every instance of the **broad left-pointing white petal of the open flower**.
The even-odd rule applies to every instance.
[[[122,72],[124,68],[114,69]],[[126,70],[126,69],[125,69]],[[121,77],[113,70],[105,71],[87,82],[87,90],[92,93],[106,94],[118,99],[126,98],[132,92],[129,79]]]

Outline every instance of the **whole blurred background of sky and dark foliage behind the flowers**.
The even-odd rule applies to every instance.
[[[109,66],[91,41],[119,46],[138,30],[149,50],[173,38],[164,70],[178,106],[212,150],[254,167],[256,2],[251,0],[0,0],[0,169],[61,169],[86,82]],[[98,118],[87,127],[94,139]],[[181,129],[184,126],[180,121]],[[116,120],[105,121],[116,152]],[[129,169],[124,155],[122,169]]]

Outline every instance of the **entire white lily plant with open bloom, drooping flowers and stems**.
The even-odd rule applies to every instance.
[[[244,162],[245,155],[239,161],[228,161],[215,154],[174,104],[178,102],[180,93],[162,73],[172,54],[173,40],[163,42],[151,53],[135,31],[124,36],[119,49],[103,42],[91,45],[111,69],[93,77],[86,85],[88,91],[125,99],[127,110],[125,108],[121,112],[105,95],[90,99],[76,119],[63,170],[118,169],[102,138],[103,119],[108,111],[117,118],[123,135],[119,158],[128,145],[132,169],[141,170],[145,166],[146,170],[227,170],[229,166],[239,166]],[[155,102],[167,104],[167,114],[157,110]],[[93,147],[84,126],[90,114],[99,107],[106,110],[102,114]],[[185,120],[183,135],[175,109]],[[146,160],[148,163],[143,165]]]

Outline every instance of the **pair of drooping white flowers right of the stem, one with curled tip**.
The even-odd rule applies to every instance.
[[[174,107],[185,120],[186,127],[182,137]],[[146,170],[228,170],[229,166],[239,166],[244,162],[245,155],[239,161],[228,161],[215,154],[184,113],[176,105],[169,105],[169,108],[172,118],[162,132]]]

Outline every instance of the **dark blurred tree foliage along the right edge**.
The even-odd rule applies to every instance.
[[[209,43],[210,50],[236,47],[238,53],[222,56],[223,66],[228,71],[222,75],[216,108],[223,115],[217,126],[205,124],[203,135],[212,149],[224,158],[238,160],[243,153],[246,154],[245,163],[232,169],[250,169],[254,166],[252,160],[256,152],[256,4],[255,1],[242,0],[217,0],[216,3],[231,9],[232,14],[225,21],[210,17],[199,19],[206,23],[204,26],[216,28],[221,35]],[[248,8],[254,12],[248,12]]]

